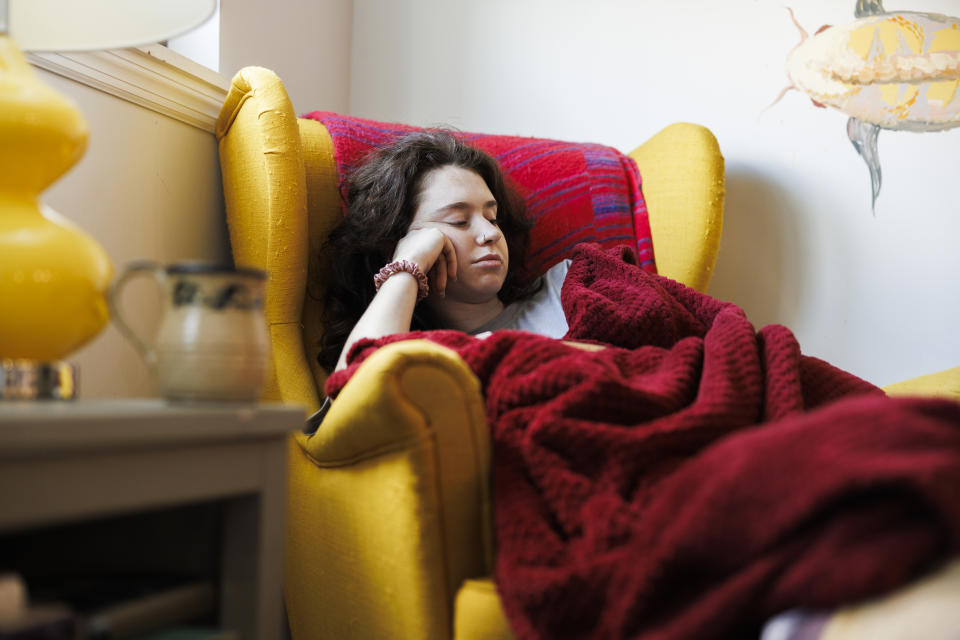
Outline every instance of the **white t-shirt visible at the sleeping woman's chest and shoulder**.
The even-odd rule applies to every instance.
[[[496,318],[482,327],[477,327],[470,334],[517,329],[548,338],[562,338],[568,327],[563,306],[560,304],[560,288],[569,268],[569,260],[558,262],[543,275],[543,286],[536,294],[508,305]]]

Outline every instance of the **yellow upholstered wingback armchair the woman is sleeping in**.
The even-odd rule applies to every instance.
[[[298,119],[277,76],[258,67],[234,77],[217,137],[235,260],[270,278],[266,397],[312,413],[326,377],[315,361],[320,248],[341,215],[332,141],[319,122]],[[713,134],[673,124],[630,155],[660,273],[704,290],[723,215]],[[960,368],[925,384],[960,397]],[[513,637],[490,579],[489,473],[483,399],[456,354],[407,341],[369,358],[322,428],[290,441],[293,637]]]

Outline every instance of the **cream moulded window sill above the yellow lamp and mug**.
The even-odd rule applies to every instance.
[[[80,53],[29,53],[34,66],[214,132],[229,79],[159,44]]]

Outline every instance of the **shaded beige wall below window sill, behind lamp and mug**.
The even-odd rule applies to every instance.
[[[80,162],[43,200],[106,249],[119,275],[133,260],[230,260],[220,164],[212,133],[71,80],[38,71],[90,124]],[[132,283],[124,308],[152,335],[159,300],[152,282]],[[70,362],[83,397],[155,396],[147,367],[111,323]]]

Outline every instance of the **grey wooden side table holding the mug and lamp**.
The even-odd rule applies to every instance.
[[[281,638],[287,437],[303,420],[284,405],[2,402],[0,534],[222,501],[220,624]]]

